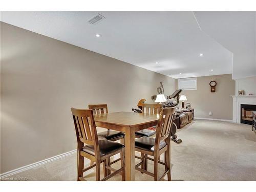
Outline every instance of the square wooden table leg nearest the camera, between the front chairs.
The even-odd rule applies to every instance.
[[[133,127],[129,127],[125,132],[125,181],[134,181],[135,176],[135,132]]]

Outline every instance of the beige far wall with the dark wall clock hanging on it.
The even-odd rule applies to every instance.
[[[216,92],[210,92],[209,82],[217,82]],[[178,79],[176,80],[178,89]],[[195,117],[232,120],[232,98],[236,86],[231,74],[197,77],[197,90],[182,91],[187,102],[195,109]],[[181,102],[180,102],[181,106]],[[209,112],[212,115],[209,115]]]

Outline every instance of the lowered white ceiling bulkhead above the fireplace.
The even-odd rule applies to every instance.
[[[256,12],[195,12],[201,29],[233,53],[232,78],[256,76]]]

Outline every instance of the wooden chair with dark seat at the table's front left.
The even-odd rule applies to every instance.
[[[85,181],[83,173],[96,166],[96,181],[108,180],[118,173],[122,174],[122,180],[124,181],[124,145],[106,139],[98,139],[92,110],[71,108],[71,111],[77,138],[77,180]],[[121,168],[116,170],[106,165],[106,159],[119,153],[121,154]],[[95,164],[84,168],[84,157],[94,161]],[[103,163],[104,171],[104,178],[101,180],[100,163]],[[114,172],[107,175],[107,170],[113,170]]]

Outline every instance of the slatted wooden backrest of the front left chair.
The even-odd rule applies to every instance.
[[[98,135],[92,110],[71,108],[77,142],[98,146]],[[97,151],[97,150],[95,150]],[[95,152],[96,153],[96,152]]]

